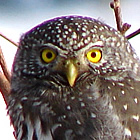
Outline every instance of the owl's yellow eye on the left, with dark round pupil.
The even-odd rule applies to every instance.
[[[55,59],[56,53],[51,49],[44,49],[42,51],[41,57],[44,62],[50,63]]]

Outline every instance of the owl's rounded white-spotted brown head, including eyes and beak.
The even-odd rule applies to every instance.
[[[128,41],[113,28],[91,18],[61,17],[21,37],[13,77],[57,77],[73,87],[87,73],[123,78],[124,71],[135,67],[135,58]]]

